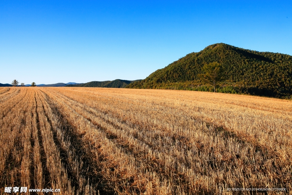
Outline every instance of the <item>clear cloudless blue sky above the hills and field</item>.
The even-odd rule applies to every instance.
[[[0,83],[144,79],[220,42],[292,55],[292,1],[0,1]]]

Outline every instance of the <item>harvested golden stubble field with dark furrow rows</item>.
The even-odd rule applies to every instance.
[[[268,194],[287,194],[292,186],[286,100],[0,87],[0,128],[1,194],[7,186],[61,189],[56,194],[250,194],[227,188],[284,187]]]

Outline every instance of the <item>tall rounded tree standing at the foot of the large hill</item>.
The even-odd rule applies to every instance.
[[[204,74],[199,75],[204,83],[207,83],[214,87],[214,92],[216,92],[216,87],[218,82],[224,80],[224,68],[218,62],[211,62],[205,64],[203,67]]]

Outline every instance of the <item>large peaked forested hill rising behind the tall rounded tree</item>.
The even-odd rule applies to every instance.
[[[223,43],[187,54],[126,88],[211,91],[212,87],[204,85],[198,76],[210,62],[218,62],[225,69],[226,79],[218,92],[292,98],[292,56]]]

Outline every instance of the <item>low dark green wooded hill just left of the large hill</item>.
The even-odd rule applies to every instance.
[[[140,81],[140,80],[136,80]],[[69,84],[65,87],[108,87],[108,88],[125,88],[128,84],[135,81],[116,79],[113,81],[91,81],[83,84]]]

